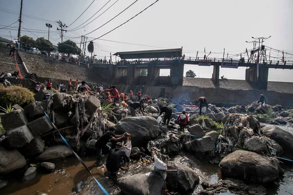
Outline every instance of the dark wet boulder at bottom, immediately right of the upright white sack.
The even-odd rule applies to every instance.
[[[186,195],[194,191],[199,183],[199,177],[189,167],[173,162],[167,162],[168,169],[178,170],[177,172],[167,172],[167,188],[171,191],[178,192],[180,195]]]

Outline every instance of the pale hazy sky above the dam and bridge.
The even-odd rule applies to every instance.
[[[61,38],[56,21],[61,20],[68,26],[63,40],[71,39],[79,46],[81,35],[102,26],[135,1],[23,0],[21,36],[48,39],[48,28],[45,24],[50,23],[53,26],[50,29],[50,41],[57,44],[61,42]],[[89,37],[88,40],[104,35],[155,1],[137,0],[105,26],[86,35]],[[10,39],[10,31],[12,39],[17,38],[20,4],[21,0],[0,0],[0,37]],[[104,5],[105,7],[102,8]],[[84,12],[88,6],[89,8]],[[198,57],[203,58],[204,50],[207,54],[212,52],[209,56],[211,58],[222,58],[224,48],[225,57],[227,53],[232,56],[244,52],[246,48],[251,49],[252,43],[246,42],[253,40],[251,37],[272,36],[265,40],[264,45],[284,51],[287,64],[292,65],[293,55],[290,55],[293,54],[292,7],[293,0],[158,0],[134,19],[101,39],[94,40],[95,55],[98,59],[105,56],[108,59],[110,53],[114,54],[118,51],[183,47],[186,58],[195,57],[197,51]],[[107,8],[109,9],[105,11]],[[84,14],[76,20],[83,12]],[[88,20],[96,12],[98,13]],[[98,18],[94,20],[96,17]],[[88,21],[85,22],[86,20]],[[92,21],[90,24],[84,26],[90,21]],[[10,26],[6,27],[8,25]],[[80,29],[76,28],[78,26]],[[267,48],[267,53],[269,50]],[[279,59],[282,57],[282,52],[270,51],[272,56]],[[247,60],[247,56],[245,59]],[[245,79],[245,69],[220,68],[220,75],[228,79]],[[197,77],[211,78],[212,67],[185,65],[184,72],[188,70],[193,70]],[[293,82],[292,74],[293,70],[270,69],[269,80]]]

